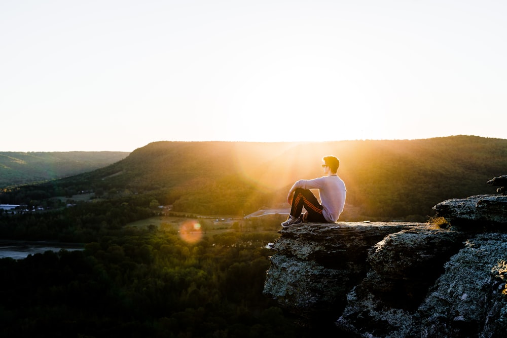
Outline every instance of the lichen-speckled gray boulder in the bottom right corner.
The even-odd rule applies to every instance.
[[[470,239],[420,306],[421,337],[505,337],[506,260],[507,235]]]

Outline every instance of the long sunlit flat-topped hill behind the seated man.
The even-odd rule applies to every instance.
[[[144,196],[175,211],[244,215],[284,203],[295,180],[322,175],[336,155],[347,186],[342,220],[422,219],[449,198],[492,194],[507,174],[507,140],[451,136],[421,140],[306,143],[154,142],[93,172],[31,187],[49,195],[92,190]],[[105,195],[104,195],[105,196]],[[29,191],[0,197],[20,203]],[[407,218],[407,219],[408,219]]]

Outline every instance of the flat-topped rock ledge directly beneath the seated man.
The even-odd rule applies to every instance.
[[[303,318],[338,318],[346,294],[368,271],[368,251],[421,223],[302,223],[280,231],[264,294]],[[336,317],[335,317],[336,316]]]

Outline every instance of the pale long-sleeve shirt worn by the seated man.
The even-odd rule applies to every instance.
[[[322,215],[330,223],[338,220],[345,206],[347,195],[345,183],[340,177],[331,175],[314,179],[300,179],[294,183],[291,191],[296,188],[318,189],[320,204],[323,207]]]

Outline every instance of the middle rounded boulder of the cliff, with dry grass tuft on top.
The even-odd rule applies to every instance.
[[[417,308],[465,239],[465,233],[430,226],[388,235],[370,251],[372,269],[347,295],[336,324],[365,337],[416,335]]]

